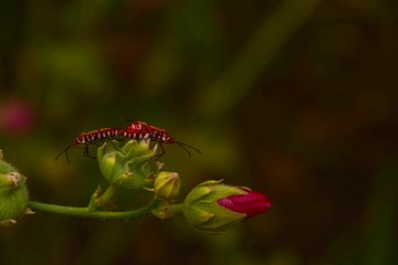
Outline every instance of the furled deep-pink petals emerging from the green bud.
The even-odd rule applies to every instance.
[[[222,198],[217,203],[232,212],[243,213],[247,219],[264,213],[271,208],[271,200],[260,192],[240,188],[247,194],[237,194]]]

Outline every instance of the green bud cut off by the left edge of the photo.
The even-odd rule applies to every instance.
[[[0,158],[0,225],[12,224],[25,213],[28,209],[25,180],[25,177]]]

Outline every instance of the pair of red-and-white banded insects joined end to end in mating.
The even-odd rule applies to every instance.
[[[119,128],[103,128],[97,130],[90,130],[86,132],[82,132],[80,136],[74,139],[74,141],[67,146],[64,150],[62,150],[59,155],[56,155],[55,160],[65,152],[66,161],[70,162],[67,157],[67,150],[72,147],[84,147],[84,156],[90,157],[88,146],[91,144],[96,144],[102,140],[112,140],[112,139],[135,139],[135,140],[151,140],[157,141],[160,146],[161,153],[158,157],[161,157],[165,153],[165,148],[163,144],[177,144],[184,150],[187,151],[190,157],[190,152],[187,149],[191,148],[196,150],[198,153],[201,153],[197,148],[191,147],[181,141],[176,141],[165,129],[157,128],[155,126],[147,125],[143,121],[133,121],[127,126],[126,129]],[[111,141],[112,142],[112,141]]]

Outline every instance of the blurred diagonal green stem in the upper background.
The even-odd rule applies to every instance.
[[[200,91],[199,112],[218,120],[233,108],[321,2],[284,0],[271,15],[265,15],[234,62],[213,85]]]

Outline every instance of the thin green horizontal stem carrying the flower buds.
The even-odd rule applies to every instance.
[[[67,216],[92,218],[102,220],[134,220],[153,215],[153,212],[159,208],[159,201],[155,200],[147,206],[126,212],[92,211],[88,208],[62,206],[34,201],[30,201],[28,203],[28,206],[34,211],[55,213]],[[178,213],[182,210],[182,204],[168,205],[167,208],[170,213]]]

